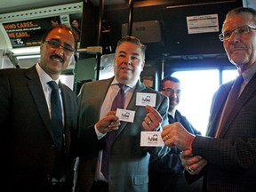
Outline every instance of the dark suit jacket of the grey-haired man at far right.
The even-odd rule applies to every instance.
[[[204,190],[253,191],[256,178],[256,75],[246,85],[228,116],[227,123],[214,138],[221,110],[233,82],[223,84],[213,97],[207,135],[196,136],[193,154],[208,161],[204,169]],[[189,182],[195,177],[186,174]]]

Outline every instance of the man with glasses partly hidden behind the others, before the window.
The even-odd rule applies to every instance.
[[[188,122],[186,116],[182,116],[177,109],[180,104],[180,80],[174,76],[166,76],[161,81],[160,91],[169,98],[169,124],[180,122],[188,132],[201,135],[201,132],[198,132]],[[170,152],[163,158],[149,164],[148,176],[149,192],[184,191],[188,189],[186,180],[184,180],[184,167],[180,161],[180,150],[175,147],[171,148]]]

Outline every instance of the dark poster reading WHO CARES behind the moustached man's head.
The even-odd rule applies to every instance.
[[[67,14],[56,17],[22,20],[4,23],[3,26],[10,38],[12,48],[39,46],[44,33],[54,25],[66,24],[74,28],[76,36],[80,39],[82,13]]]

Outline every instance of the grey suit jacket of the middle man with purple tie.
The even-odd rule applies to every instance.
[[[99,144],[99,148],[95,150],[93,156],[85,156],[84,158],[81,156],[80,158],[78,191],[89,191],[95,178],[100,142],[103,141],[104,145],[104,140],[100,140],[100,142],[97,140],[94,124],[99,121],[100,108],[112,81],[113,78],[110,78],[84,84],[78,96],[80,136],[87,140],[87,145],[96,146],[97,143]],[[112,145],[108,176],[109,191],[111,192],[148,191],[150,155],[158,158],[164,156],[169,150],[166,147],[140,147],[140,132],[144,130],[142,122],[147,115],[147,111],[144,106],[135,105],[137,92],[156,93],[156,109],[163,116],[162,125],[168,124],[168,98],[138,81],[127,107],[129,110],[136,111],[134,122],[122,122]]]

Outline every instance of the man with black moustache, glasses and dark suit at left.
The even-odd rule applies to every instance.
[[[77,138],[77,103],[76,94],[61,84],[60,73],[68,68],[75,50],[76,35],[71,28],[60,25],[43,36],[39,63],[26,69],[0,70],[1,186],[4,191],[72,191],[74,160],[71,156],[75,156],[72,146]],[[60,137],[51,125],[52,88],[47,84],[50,81],[59,84],[60,132],[63,132]],[[56,149],[57,140],[60,140],[60,151]],[[60,164],[63,166],[57,177]]]

